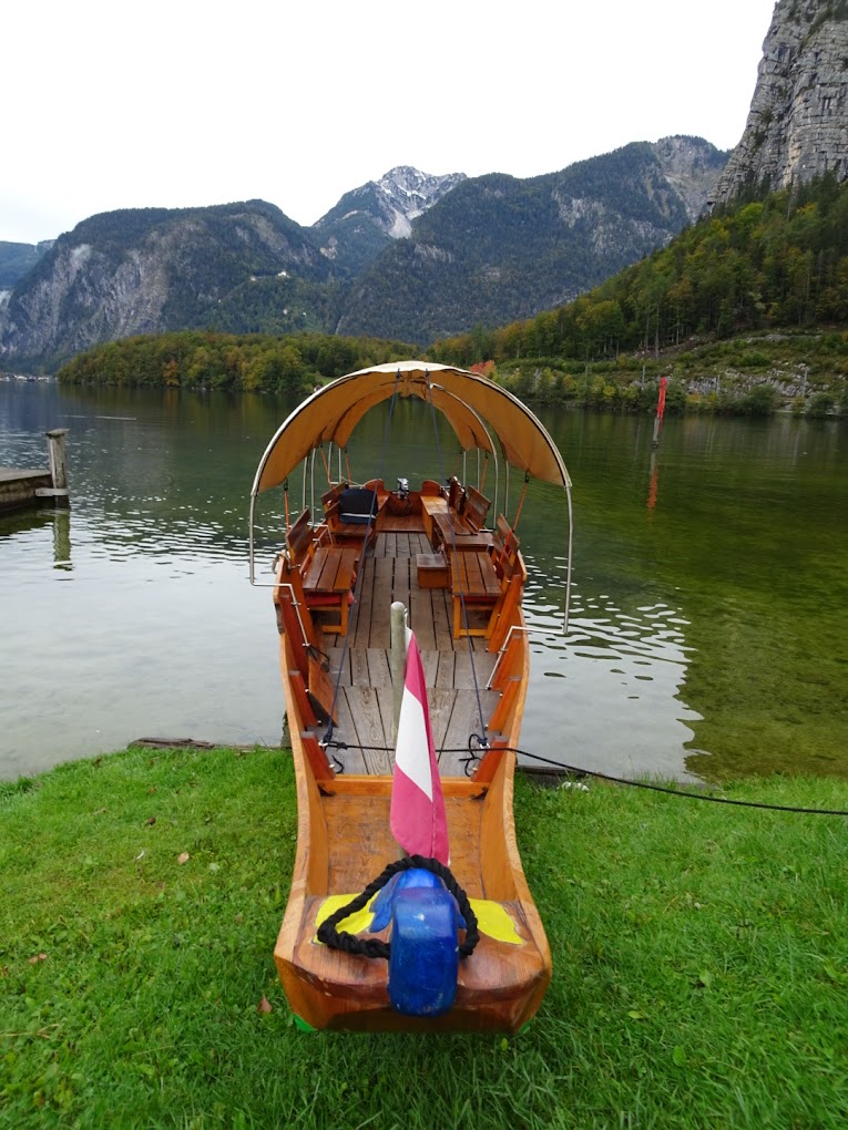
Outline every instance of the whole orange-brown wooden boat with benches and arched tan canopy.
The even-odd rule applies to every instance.
[[[397,490],[371,479],[357,495],[330,483],[322,513],[305,506],[315,452],[329,451],[327,469],[334,451],[340,462],[362,416],[398,395],[418,397],[447,417],[464,450],[483,450],[495,461],[500,452],[525,481],[570,486],[556,446],[520,401],[484,376],[425,362],[340,377],[305,400],[269,443],[251,495],[253,583],[258,499],[270,488],[287,489],[304,467],[304,506],[288,525],[271,585],[298,806],[275,960],[293,1011],[314,1028],[516,1032],[542,1001],[551,955],[512,817],[513,750],[529,668],[521,608],[527,573],[514,520],[501,514],[488,527],[484,485],[442,485],[438,467],[433,479],[412,488],[399,480]],[[288,506],[286,513],[288,522]],[[389,825],[396,602],[421,650],[450,869],[481,929],[475,951],[459,963],[452,1007],[439,1016],[392,1007],[384,960],[317,940],[319,922],[401,854]],[[343,927],[355,932],[367,921],[366,911]]]

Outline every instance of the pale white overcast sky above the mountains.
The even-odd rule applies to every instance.
[[[773,0],[26,0],[2,18],[0,240],[260,198],[313,224],[395,165],[535,176],[730,149]]]

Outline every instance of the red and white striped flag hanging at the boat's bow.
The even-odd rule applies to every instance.
[[[410,855],[438,859],[447,867],[450,859],[448,817],[430,729],[424,668],[415,635],[408,629],[390,825],[391,834]]]

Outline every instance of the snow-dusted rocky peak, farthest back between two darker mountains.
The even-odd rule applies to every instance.
[[[423,216],[466,180],[465,173],[430,176],[409,165],[398,165],[346,192],[335,208],[314,225],[321,254],[345,276],[357,275],[392,240],[412,233],[412,221]]]

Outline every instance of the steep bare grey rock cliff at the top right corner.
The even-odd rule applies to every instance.
[[[715,201],[832,172],[848,180],[848,0],[778,0],[742,140]]]

